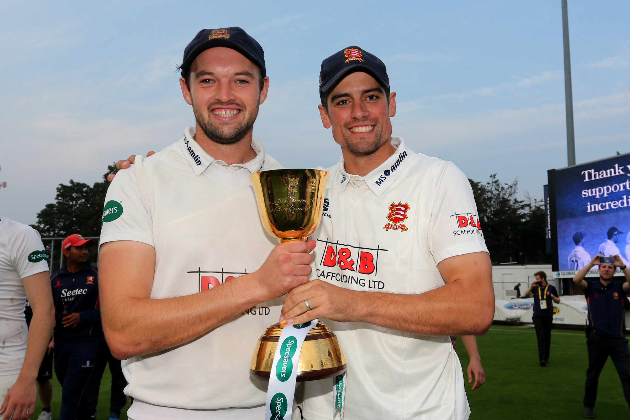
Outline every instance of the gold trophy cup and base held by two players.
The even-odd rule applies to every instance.
[[[328,175],[318,169],[275,169],[249,176],[263,226],[278,242],[306,241],[315,232],[321,219]],[[251,376],[269,380],[284,325],[273,324],[258,339],[249,364]],[[346,358],[335,333],[318,322],[302,344],[297,381],[329,378],[345,370]]]

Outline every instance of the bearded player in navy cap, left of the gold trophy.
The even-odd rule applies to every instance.
[[[308,281],[314,244],[278,245],[268,236],[248,184],[249,173],[280,168],[252,137],[269,86],[260,45],[241,28],[202,30],[186,47],[181,69],[181,91],[193,106],[196,128],[154,156],[136,157],[135,167],[118,173],[108,190],[107,203],[115,208],[117,202],[108,200],[122,201],[122,215],[103,218],[103,329],[112,354],[128,359],[126,391],[136,398],[130,418],[258,420],[266,383],[249,377],[251,352],[264,327],[280,316],[277,298]],[[139,173],[154,177],[147,179],[159,194],[145,195]],[[165,195],[177,198],[164,202]],[[144,231],[128,229],[145,219]],[[197,224],[177,229],[187,220]],[[231,236],[215,238],[219,230]],[[231,247],[232,258],[223,256]],[[224,268],[241,273],[224,277]],[[212,270],[221,274],[202,276],[218,272]]]

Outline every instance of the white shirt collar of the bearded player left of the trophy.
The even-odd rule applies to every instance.
[[[207,154],[205,150],[195,141],[193,138],[195,135],[195,127],[186,127],[184,130],[184,137],[180,140],[181,151],[183,152],[188,164],[192,167],[195,175],[199,176],[212,164],[221,165],[229,169],[230,171],[238,171],[241,168],[247,169],[249,173],[260,172],[265,164],[265,147],[256,139],[251,137],[251,148],[256,152],[256,157],[246,163],[234,163],[228,165],[224,161],[214,159],[214,157]]]

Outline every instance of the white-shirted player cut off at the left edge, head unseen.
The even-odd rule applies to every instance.
[[[39,233],[3,216],[0,288],[0,415],[4,414],[4,420],[25,420],[35,409],[35,379],[50,342],[55,311]],[[30,331],[24,317],[27,299],[33,309]]]

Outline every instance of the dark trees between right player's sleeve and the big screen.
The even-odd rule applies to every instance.
[[[469,179],[486,246],[493,264],[547,263],[542,200],[517,198],[518,182],[501,183],[496,174],[481,183]]]

